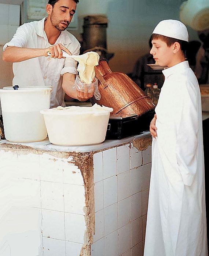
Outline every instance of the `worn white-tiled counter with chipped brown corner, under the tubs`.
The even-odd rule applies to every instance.
[[[0,255],[142,256],[150,145],[0,141]]]

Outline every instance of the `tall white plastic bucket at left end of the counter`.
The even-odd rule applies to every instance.
[[[47,137],[40,110],[50,106],[51,88],[1,89],[4,133],[11,142],[36,142]]]

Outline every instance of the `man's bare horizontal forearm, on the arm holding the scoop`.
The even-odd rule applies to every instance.
[[[8,46],[3,52],[2,59],[7,62],[21,62],[40,56],[44,56],[44,49]]]

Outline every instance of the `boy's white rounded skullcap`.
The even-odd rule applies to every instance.
[[[165,19],[160,21],[155,27],[153,34],[158,34],[162,36],[168,36],[170,38],[175,38],[188,42],[189,35],[186,26],[175,19]]]

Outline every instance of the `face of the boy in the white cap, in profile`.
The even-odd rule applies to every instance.
[[[153,47],[150,50],[150,54],[153,55],[156,64],[160,66],[170,67],[173,59],[173,45],[170,47],[160,39],[152,40]]]

